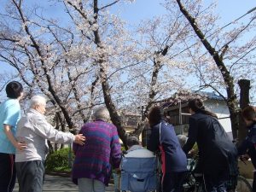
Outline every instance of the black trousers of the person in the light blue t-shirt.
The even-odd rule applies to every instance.
[[[15,154],[0,153],[0,191],[12,192],[15,181]]]

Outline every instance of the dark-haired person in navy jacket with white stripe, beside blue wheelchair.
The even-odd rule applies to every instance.
[[[162,192],[183,191],[183,178],[187,171],[187,158],[178,143],[174,127],[162,119],[159,107],[150,109],[148,122],[152,128],[148,150],[160,151]]]

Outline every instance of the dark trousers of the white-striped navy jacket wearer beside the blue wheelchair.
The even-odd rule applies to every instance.
[[[163,177],[162,192],[182,192],[186,172],[168,172]]]

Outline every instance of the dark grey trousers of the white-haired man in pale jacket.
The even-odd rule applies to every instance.
[[[44,183],[44,162],[32,160],[16,162],[19,192],[42,192]]]

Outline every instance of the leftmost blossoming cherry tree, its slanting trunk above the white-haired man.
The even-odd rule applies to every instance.
[[[0,57],[15,67],[28,92],[48,96],[70,129],[75,119],[89,119],[98,98],[95,80],[90,80],[96,75],[89,47],[81,44],[79,34],[15,0],[2,14],[1,26]]]

